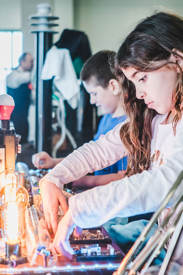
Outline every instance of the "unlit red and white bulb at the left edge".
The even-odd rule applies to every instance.
[[[13,97],[9,94],[0,95],[0,119],[10,119],[14,107],[15,102]]]

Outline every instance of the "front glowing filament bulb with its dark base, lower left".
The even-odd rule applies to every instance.
[[[25,187],[11,183],[0,191],[1,235],[6,244],[6,258],[21,256],[20,239],[24,234],[24,209],[29,202]]]

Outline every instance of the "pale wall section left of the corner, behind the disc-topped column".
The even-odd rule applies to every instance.
[[[58,34],[53,35],[53,42],[56,42],[63,29],[74,27],[73,0],[0,0],[0,30],[19,30],[23,32],[23,51],[34,52],[34,34],[30,31],[34,27],[30,23],[29,16],[37,13],[36,5],[39,3],[50,3],[53,7],[53,15],[59,20],[52,21],[59,24],[53,28]]]

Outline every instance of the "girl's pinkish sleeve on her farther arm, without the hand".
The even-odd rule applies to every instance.
[[[93,171],[108,167],[123,156],[126,156],[125,148],[120,139],[120,128],[123,124],[124,122],[118,124],[104,137],[85,143],[77,150],[74,150],[73,153],[42,178],[40,184],[43,179],[47,179],[62,189],[63,184],[77,180]]]

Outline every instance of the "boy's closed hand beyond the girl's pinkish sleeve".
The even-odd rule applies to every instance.
[[[46,152],[40,152],[32,155],[32,163],[37,169],[48,169],[53,168],[55,164],[55,159],[48,155]]]

